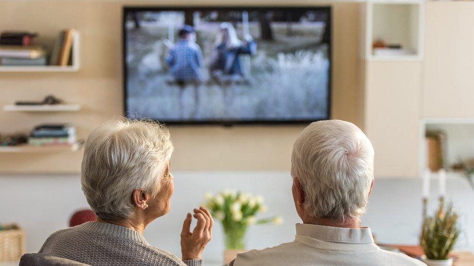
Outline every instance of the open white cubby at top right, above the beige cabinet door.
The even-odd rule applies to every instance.
[[[362,57],[368,61],[419,61],[423,57],[424,2],[421,0],[368,0],[363,4]],[[377,53],[373,42],[401,45],[400,51],[387,49]]]

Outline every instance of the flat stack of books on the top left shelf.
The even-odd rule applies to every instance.
[[[28,31],[3,31],[0,33],[0,64],[9,66],[46,65],[46,52],[33,45],[36,33]]]

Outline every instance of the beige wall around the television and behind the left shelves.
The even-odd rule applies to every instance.
[[[169,1],[168,4],[189,1]],[[291,2],[311,5],[312,1]],[[160,2],[147,2],[163,5]],[[219,5],[288,5],[288,1],[207,1]],[[81,32],[78,73],[0,73],[0,106],[15,100],[39,100],[54,94],[82,105],[80,112],[20,113],[0,110],[0,133],[28,132],[41,123],[72,122],[80,138],[122,113],[121,8],[126,1],[0,1],[0,30],[40,33],[52,44],[63,28]],[[205,4],[195,1],[194,5]],[[332,117],[361,123],[358,104],[356,43],[358,4],[333,3]],[[173,126],[175,170],[288,171],[292,142],[304,125]],[[82,152],[0,154],[0,172],[79,172]]]

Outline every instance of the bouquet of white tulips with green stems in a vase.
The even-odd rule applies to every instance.
[[[283,223],[281,217],[257,219],[259,212],[265,212],[267,205],[260,195],[252,196],[250,193],[236,192],[224,189],[213,195],[207,192],[204,195],[204,205],[210,210],[214,219],[220,220],[225,234],[225,247],[228,250],[243,250],[245,248],[244,238],[249,225]]]

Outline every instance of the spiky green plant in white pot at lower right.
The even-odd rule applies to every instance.
[[[425,254],[423,262],[427,266],[453,265],[453,258],[449,257],[449,253],[456,244],[459,232],[453,204],[445,206],[441,198],[437,212],[432,217],[423,219],[420,235],[420,245]]]

